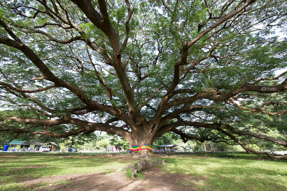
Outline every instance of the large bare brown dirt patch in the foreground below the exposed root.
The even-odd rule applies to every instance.
[[[127,179],[124,173],[111,174],[74,174],[53,176],[49,178],[37,178],[23,182],[24,186],[33,187],[33,184],[39,182],[52,182],[57,180],[66,180],[67,184],[50,185],[46,190],[62,191],[190,191],[196,190],[190,180],[204,179],[203,177],[193,177],[186,174],[162,174],[157,168],[151,168],[144,173],[143,180]],[[184,181],[187,184],[181,184]]]

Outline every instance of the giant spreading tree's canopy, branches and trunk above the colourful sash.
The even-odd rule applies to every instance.
[[[0,4],[2,133],[287,147],[285,1]]]

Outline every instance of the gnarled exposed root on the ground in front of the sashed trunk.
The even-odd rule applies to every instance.
[[[160,161],[157,158],[149,158],[148,156],[133,156],[132,158],[141,158],[140,161],[130,164],[129,166],[120,168],[117,172],[121,170],[129,170],[131,169],[131,178],[136,179],[136,174],[141,172],[142,170],[149,169],[154,167],[155,165],[165,164],[165,159]]]

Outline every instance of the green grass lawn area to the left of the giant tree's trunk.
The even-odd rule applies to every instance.
[[[120,158],[79,158],[82,154],[78,153],[71,153],[70,156],[73,158],[59,158],[62,155],[61,153],[60,155],[57,155],[57,153],[9,153],[8,155],[10,156],[5,157],[7,154],[0,153],[1,191],[37,190],[28,189],[19,184],[28,178],[43,178],[54,175],[110,173],[115,172],[120,167],[125,167],[127,162],[130,164],[137,161],[126,161],[126,159]],[[59,181],[57,184],[64,182],[65,181]],[[41,186],[45,187],[45,184],[39,184],[39,187]]]

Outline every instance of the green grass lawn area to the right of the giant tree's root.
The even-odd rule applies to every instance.
[[[286,162],[260,160],[266,157],[251,154],[208,156],[212,158],[168,157],[165,158],[167,164],[160,168],[163,173],[191,175],[177,180],[176,183],[180,186],[192,185],[200,191],[287,190]]]

